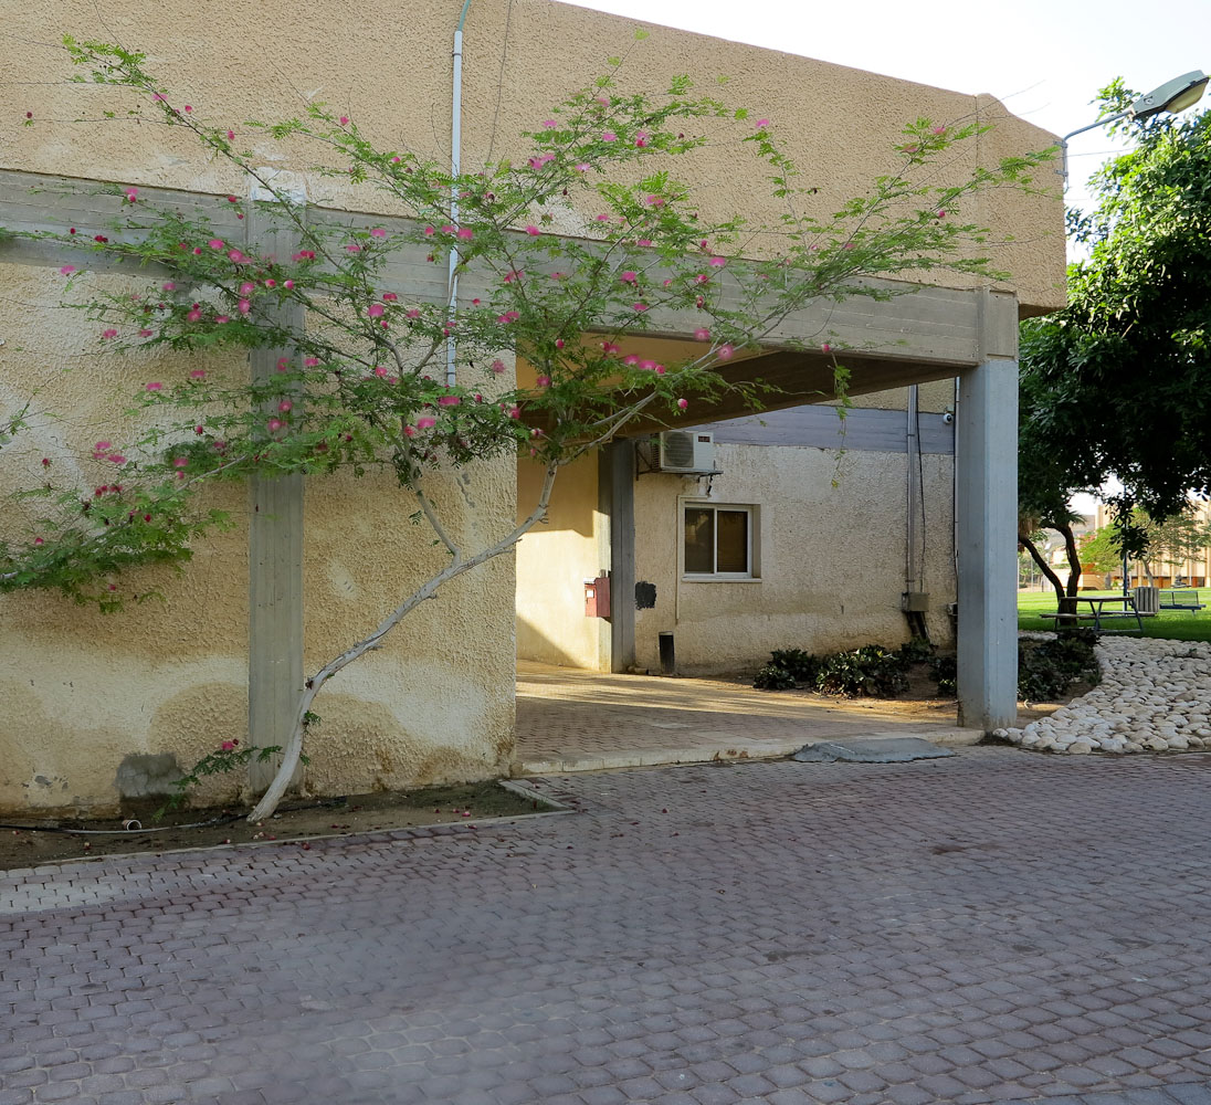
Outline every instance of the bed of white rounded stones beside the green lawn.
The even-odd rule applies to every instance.
[[[1211,645],[1103,637],[1102,682],[1050,717],[994,735],[1037,752],[1211,749]]]

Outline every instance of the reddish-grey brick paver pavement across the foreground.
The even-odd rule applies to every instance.
[[[0,876],[0,1105],[1211,1101],[1211,756],[546,779]],[[7,1004],[6,1004],[7,1003]]]

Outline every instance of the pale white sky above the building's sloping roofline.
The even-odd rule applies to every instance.
[[[1056,134],[1092,122],[1098,88],[1149,92],[1211,71],[1211,0],[564,0],[958,92],[989,92]],[[1142,15],[1141,15],[1142,13]],[[1206,105],[1207,101],[1204,101]],[[1103,131],[1069,147],[1069,204],[1112,151]]]

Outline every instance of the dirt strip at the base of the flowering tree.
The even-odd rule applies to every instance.
[[[161,805],[162,800],[150,798],[127,802],[119,817],[97,820],[5,818],[0,829],[0,870],[94,855],[159,855],[222,845],[308,848],[309,837],[421,825],[475,825],[487,818],[558,808],[545,798],[528,797],[494,781],[285,802],[274,817],[257,825],[245,820],[247,808],[174,811],[156,821],[154,814]],[[142,823],[143,830],[153,831],[124,830],[122,821],[132,818]],[[62,831],[68,829],[91,831]]]

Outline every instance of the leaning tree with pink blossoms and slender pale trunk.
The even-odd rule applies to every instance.
[[[57,588],[116,605],[115,573],[186,560],[190,538],[222,522],[202,489],[252,474],[388,469],[401,503],[411,504],[402,509],[447,552],[438,572],[398,596],[373,631],[299,688],[294,733],[254,819],[285,792],[325,683],[442,584],[511,549],[544,517],[563,466],[641,412],[675,418],[724,388],[721,362],[759,347],[811,300],[886,297],[865,281],[909,270],[1003,275],[972,256],[985,231],[962,221],[962,202],[989,187],[1025,187],[1046,156],[932,183],[940,156],[982,127],[918,120],[895,150],[896,171],[819,219],[805,212],[813,189],[799,182],[769,120],[694,96],[688,79],[659,98],[621,92],[619,59],[535,122],[524,160],[454,176],[415,153],[379,149],[356,122],[318,103],[297,119],[243,124],[237,134],[170,93],[143,55],[65,41],[84,69],[78,80],[117,86],[128,113],[191,132],[206,154],[256,182],[258,199],[230,195],[219,205],[237,217],[256,210],[298,244],[288,257],[262,254],[206,217],[156,208],[137,188],[111,185],[122,218],[88,248],[165,275],[134,293],[73,300],[94,320],[101,343],[127,356],[165,347],[286,353],[271,379],[212,377],[185,357],[176,379],[148,380],[139,397],[145,430],[131,442],[96,443],[91,459],[103,475],[94,488],[65,486],[47,473],[31,489],[46,509],[29,533],[0,545],[0,588]],[[367,225],[315,218],[241,149],[249,134],[288,150],[312,144],[325,159],[309,166],[314,178],[371,184],[402,217]],[[672,166],[708,138],[737,142],[764,164],[785,205],[779,223],[702,217]],[[74,229],[39,236],[75,246]],[[463,293],[448,285],[434,302],[388,290],[388,260],[401,251],[438,271],[448,264],[450,285],[460,280]],[[76,274],[70,265],[61,271],[70,297]],[[291,310],[304,326],[291,325]],[[670,311],[690,320],[694,356],[666,365],[624,355],[624,339]],[[510,350],[534,366],[533,387],[511,384]],[[843,377],[838,368],[839,389]],[[759,389],[747,391],[758,399]],[[518,451],[545,470],[536,502],[498,540],[464,548],[434,506],[434,474]]]

